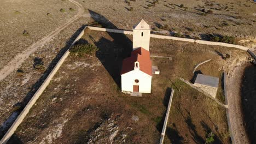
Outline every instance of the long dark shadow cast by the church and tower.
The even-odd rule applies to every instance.
[[[94,21],[99,23],[104,28],[118,29],[112,22],[106,19],[101,14],[95,11],[89,10],[89,13]],[[123,59],[129,57],[132,51],[132,41],[121,33],[107,32],[113,41],[106,38],[101,38],[95,41],[93,37],[90,37],[94,44],[98,47],[96,57],[101,61],[104,68],[113,77],[113,80],[119,88],[121,87],[121,68]]]

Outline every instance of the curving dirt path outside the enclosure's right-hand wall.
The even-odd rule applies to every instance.
[[[241,102],[241,79],[246,64],[241,67],[234,68],[235,75],[233,77],[227,76],[226,78],[226,93],[228,95],[229,103],[229,117],[234,143],[249,143],[248,136],[245,130],[243,121],[242,102]]]

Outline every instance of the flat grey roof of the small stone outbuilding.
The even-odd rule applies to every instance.
[[[218,88],[219,78],[208,76],[208,75],[197,74],[195,83]]]

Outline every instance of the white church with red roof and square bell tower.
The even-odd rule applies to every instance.
[[[121,89],[125,93],[151,93],[152,61],[149,52],[150,26],[141,20],[133,27],[131,57],[123,60]]]

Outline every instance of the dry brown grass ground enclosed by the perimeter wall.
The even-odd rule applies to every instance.
[[[130,97],[119,88],[119,63],[131,49],[130,39],[131,35],[86,30],[78,44],[96,45],[96,53],[72,54],[66,59],[10,143],[157,143],[171,87],[176,92],[166,143],[203,143],[211,131],[217,143],[230,143],[225,109],[177,79],[192,79],[195,64],[207,58],[213,61],[199,69],[220,76],[221,68],[229,70],[232,61],[241,58],[241,63],[245,62],[247,53],[152,39],[152,55],[171,56],[172,60],[152,58],[153,65],[160,68],[160,75],[153,76],[152,94]],[[216,51],[230,53],[231,57],[224,60]]]

